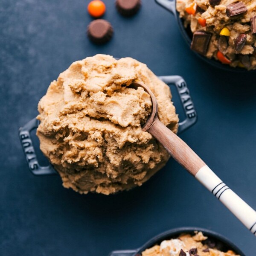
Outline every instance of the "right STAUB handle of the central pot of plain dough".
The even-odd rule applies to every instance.
[[[189,89],[186,86],[186,81],[181,76],[158,76],[158,78],[166,84],[174,84],[177,88],[183,110],[186,114],[186,119],[179,123],[178,134],[180,134],[197,121],[197,113]]]

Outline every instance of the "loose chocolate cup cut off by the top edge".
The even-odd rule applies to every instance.
[[[141,0],[116,0],[116,9],[124,16],[137,13],[141,6]]]

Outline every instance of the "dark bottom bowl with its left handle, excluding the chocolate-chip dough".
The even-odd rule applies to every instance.
[[[208,239],[210,239],[211,241],[215,241],[217,247],[220,247],[220,249],[223,251],[233,250],[236,254],[239,254],[240,256],[245,256],[245,254],[238,247],[236,247],[235,244],[233,244],[224,236],[221,236],[220,234],[215,233],[211,230],[199,227],[181,227],[172,229],[161,233],[158,236],[155,236],[138,249],[113,251],[109,254],[109,256],[140,256],[144,250],[151,248],[156,244],[160,244],[163,240],[177,238],[182,233],[194,234],[194,231],[201,231],[205,236],[208,237]]]

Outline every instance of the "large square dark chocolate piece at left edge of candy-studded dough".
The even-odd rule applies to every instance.
[[[202,55],[206,55],[211,37],[211,33],[195,31],[193,34],[191,49]]]

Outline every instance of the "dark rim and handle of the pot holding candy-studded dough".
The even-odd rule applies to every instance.
[[[157,3],[158,1],[155,0]],[[160,6],[162,6],[163,8],[167,9],[169,12],[171,12],[174,16],[175,16],[175,19],[177,20],[177,23],[178,23],[178,26],[179,26],[179,29],[180,29],[180,32],[181,34],[183,35],[183,38],[185,39],[187,45],[189,46],[189,49],[190,49],[190,44],[192,42],[192,39],[189,37],[188,33],[186,32],[186,29],[185,27],[183,26],[183,20],[179,17],[180,13],[176,10],[176,0],[166,0],[170,3],[173,3],[174,6],[175,6],[175,10],[171,10],[171,9],[168,9],[166,8],[165,6],[162,6],[160,3],[158,3]],[[198,58],[201,58],[203,61],[207,62],[208,64],[214,66],[214,67],[217,67],[217,68],[220,68],[222,70],[225,70],[225,71],[231,71],[231,72],[236,72],[236,73],[254,73],[256,72],[256,70],[247,70],[245,68],[241,68],[241,67],[231,67],[227,64],[222,64],[221,62],[215,60],[214,58],[207,58],[206,56],[203,56],[195,51],[193,51],[192,49],[190,49],[196,56],[198,56]]]

